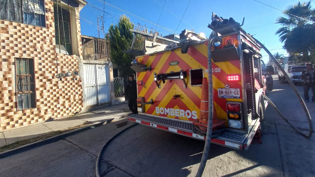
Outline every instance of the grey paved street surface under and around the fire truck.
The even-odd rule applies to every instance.
[[[291,123],[307,133],[306,116],[294,92],[289,84],[273,78],[274,91],[269,98]],[[297,88],[303,94],[302,86]],[[315,117],[315,103],[306,105]],[[120,120],[0,159],[0,176],[95,176],[102,146],[131,124]],[[211,144],[203,176],[314,176],[314,136],[306,139],[297,134],[271,106],[265,112],[265,132],[263,143],[251,144],[247,151]],[[105,177],[194,176],[203,146],[201,140],[137,125],[107,146],[100,171]]]

